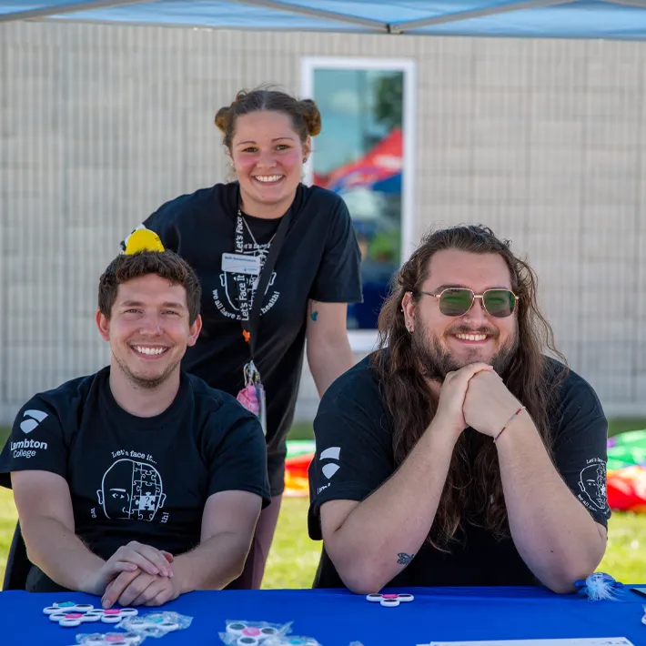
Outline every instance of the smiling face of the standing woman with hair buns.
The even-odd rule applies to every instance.
[[[288,115],[260,111],[238,116],[230,155],[245,212],[262,217],[271,207],[278,217],[287,211],[309,150],[309,139],[301,142]]]

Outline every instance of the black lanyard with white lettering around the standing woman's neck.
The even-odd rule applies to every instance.
[[[256,278],[256,297],[253,298],[253,302],[251,304],[250,301],[252,300],[252,298],[247,288],[247,276],[245,274],[236,274],[234,278],[237,282],[237,301],[240,307],[242,336],[249,344],[249,352],[251,354],[252,361],[257,348],[257,334],[258,328],[260,327],[260,309],[262,308],[262,301],[263,298],[265,298],[265,291],[267,290],[271,274],[274,271],[274,267],[276,267],[276,261],[278,260],[280,247],[283,246],[285,236],[288,233],[291,216],[292,207],[289,207],[288,212],[283,216],[280,224],[278,225],[276,235],[274,236],[273,240],[271,240],[271,244],[269,245],[269,253],[265,258],[265,264],[260,267],[260,273]],[[236,253],[244,254],[244,249],[245,223],[242,221],[242,211],[240,210],[240,207],[238,207],[236,218]]]

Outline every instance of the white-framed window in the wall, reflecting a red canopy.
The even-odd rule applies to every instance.
[[[343,197],[361,249],[364,302],[348,307],[359,351],[373,347],[390,278],[413,243],[414,71],[412,61],[303,61],[303,96],[323,121],[306,181]]]

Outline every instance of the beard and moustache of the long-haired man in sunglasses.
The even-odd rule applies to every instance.
[[[459,334],[461,330],[456,329],[453,333]],[[490,328],[481,328],[479,330],[464,330],[464,332],[471,332],[474,334],[491,334],[493,330]],[[495,333],[495,332],[494,332]],[[438,380],[443,382],[449,372],[455,372],[460,368],[464,368],[474,360],[469,361],[469,358],[463,363],[459,363],[453,355],[447,350],[442,348],[439,343],[437,335],[433,335],[431,340],[427,340],[426,327],[419,325],[415,327],[415,332],[412,335],[411,346],[415,357],[419,361],[419,365],[428,379]],[[505,373],[510,368],[511,363],[516,357],[519,347],[518,331],[510,338],[489,361],[493,369],[504,378]]]

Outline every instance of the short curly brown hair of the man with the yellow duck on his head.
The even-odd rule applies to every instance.
[[[98,281],[98,308],[110,318],[116,293],[121,283],[156,274],[172,285],[181,285],[187,291],[188,321],[191,325],[199,316],[201,288],[193,268],[173,251],[137,251],[117,256]]]

